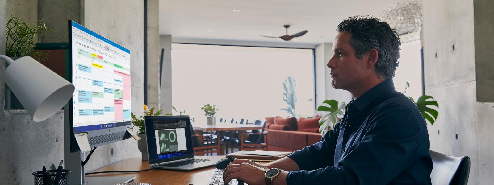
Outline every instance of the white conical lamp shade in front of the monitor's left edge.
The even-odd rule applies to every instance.
[[[74,85],[27,56],[12,62],[3,80],[36,122],[43,121],[67,104]]]

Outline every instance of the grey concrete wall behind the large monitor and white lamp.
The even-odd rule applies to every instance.
[[[9,0],[7,3],[6,0],[0,0],[0,25],[5,25],[7,4],[9,4],[8,8],[19,10],[18,12],[21,13],[19,17],[25,16],[31,18],[30,20],[36,20],[38,15],[41,15],[47,27],[53,27],[53,30],[58,31],[57,34],[46,39],[43,37],[41,40],[43,42],[67,41],[67,20],[78,19],[78,22],[85,23],[84,26],[87,28],[128,48],[131,51],[132,112],[142,115],[143,0],[77,0],[77,3],[40,0],[39,2],[41,5],[38,1]],[[44,13],[34,14],[23,9],[35,5],[38,5],[38,10]],[[59,11],[60,9],[64,11]],[[4,26],[0,26],[0,35],[5,35]],[[0,37],[0,54],[4,54],[4,46],[5,38]],[[0,67],[4,67],[4,61],[0,61]],[[0,76],[2,73],[3,70],[0,70]],[[63,158],[63,111],[37,123],[24,110],[3,110],[4,82],[1,78],[0,97],[0,146],[2,146],[0,179],[3,184],[33,184],[32,172],[41,170],[43,165],[54,169]],[[140,157],[137,142],[134,140],[129,139],[99,147],[87,163],[86,172],[129,157]]]

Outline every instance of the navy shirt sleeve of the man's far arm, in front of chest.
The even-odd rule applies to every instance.
[[[334,126],[334,129],[326,132],[322,140],[312,146],[304,147],[301,150],[294,151],[287,157],[293,159],[300,170],[324,168],[327,164],[334,163],[334,148],[338,139],[340,123]]]

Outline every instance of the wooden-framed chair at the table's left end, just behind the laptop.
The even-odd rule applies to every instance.
[[[220,155],[220,138],[214,135],[205,136],[203,134],[196,134],[194,127],[190,127],[192,133],[192,145],[194,146],[194,155],[205,155],[208,153],[216,153]],[[216,148],[216,150],[213,150]]]

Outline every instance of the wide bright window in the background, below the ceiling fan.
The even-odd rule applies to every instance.
[[[172,105],[196,121],[206,122],[206,104],[228,121],[287,117],[280,109],[288,107],[281,97],[288,76],[297,85],[296,113],[312,116],[312,49],[172,44]]]

